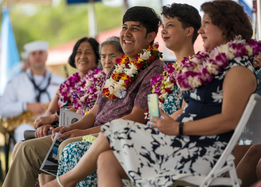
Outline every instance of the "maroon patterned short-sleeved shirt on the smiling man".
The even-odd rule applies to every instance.
[[[152,88],[150,87],[150,81],[153,76],[161,74],[164,70],[164,62],[161,60],[153,61],[149,67],[142,70],[135,81],[127,88],[127,95],[122,99],[108,99],[102,95],[103,89],[99,92],[98,98],[95,104],[98,105],[98,111],[96,114],[96,120],[94,127],[110,122],[113,119],[118,119],[126,116],[132,112],[133,107],[139,107],[146,110],[147,95],[151,94]],[[108,75],[112,74],[114,68],[110,69]],[[102,85],[104,87],[105,82]],[[145,116],[144,116],[145,117]]]

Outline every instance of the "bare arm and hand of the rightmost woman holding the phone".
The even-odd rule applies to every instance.
[[[235,129],[250,95],[256,90],[257,83],[253,73],[245,67],[231,68],[223,82],[222,111],[200,120],[184,123],[185,135],[215,135]],[[179,122],[163,114],[165,119],[153,117],[154,127],[169,135],[179,134]],[[211,125],[210,125],[211,124]]]

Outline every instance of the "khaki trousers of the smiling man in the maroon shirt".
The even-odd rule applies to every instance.
[[[93,135],[98,136],[98,133]],[[58,149],[59,160],[63,148],[67,144],[81,140],[82,136],[64,140]],[[14,160],[4,180],[3,187],[34,187],[36,178],[41,174],[40,167],[51,145],[51,136],[35,138],[22,142],[17,149]]]

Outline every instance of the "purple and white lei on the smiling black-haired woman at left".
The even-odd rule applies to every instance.
[[[76,109],[82,107],[88,111],[97,99],[104,77],[103,70],[99,68],[89,70],[82,78],[75,73],[60,86],[59,98],[63,102],[74,103]]]

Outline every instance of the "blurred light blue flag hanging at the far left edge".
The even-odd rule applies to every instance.
[[[0,97],[11,78],[21,72],[20,57],[17,50],[7,3],[3,3],[3,21],[0,43]]]

